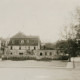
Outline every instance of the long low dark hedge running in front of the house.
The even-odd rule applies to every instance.
[[[50,61],[50,60],[68,60],[68,56],[59,56],[59,57],[56,57],[56,58],[41,58],[41,59],[36,59],[36,57],[24,57],[24,56],[21,56],[21,57],[15,57],[15,56],[12,56],[12,57],[7,57],[7,56],[4,56],[2,57],[2,60],[13,60],[13,61],[23,61],[23,60],[37,60],[37,61]]]

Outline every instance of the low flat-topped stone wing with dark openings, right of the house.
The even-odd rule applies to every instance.
[[[59,57],[56,50],[35,50],[34,53],[37,59],[42,58],[56,59]]]

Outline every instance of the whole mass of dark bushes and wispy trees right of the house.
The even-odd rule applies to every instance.
[[[74,12],[74,20],[68,26],[64,27],[64,32],[61,31],[62,40],[58,41],[56,48],[62,50],[64,54],[69,54],[69,61],[71,56],[77,56],[80,49],[80,8],[76,8]]]

